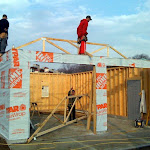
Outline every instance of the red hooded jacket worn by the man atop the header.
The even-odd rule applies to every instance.
[[[88,21],[86,19],[81,20],[81,22],[77,28],[78,38],[81,38],[83,35],[88,34],[87,27],[88,27]]]

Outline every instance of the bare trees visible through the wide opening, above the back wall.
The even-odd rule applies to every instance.
[[[92,65],[72,65],[72,64],[64,64],[61,68],[58,69],[59,72],[63,73],[78,73],[92,70],[93,70]]]

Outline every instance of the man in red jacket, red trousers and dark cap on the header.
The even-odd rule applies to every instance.
[[[77,28],[77,35],[78,35],[78,44],[81,43],[80,45],[80,50],[79,54],[85,54],[86,51],[86,41],[87,41],[87,27],[88,27],[88,22],[92,20],[91,16],[87,16],[86,19],[81,20],[78,28]]]

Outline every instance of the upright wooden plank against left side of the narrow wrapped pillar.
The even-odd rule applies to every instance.
[[[96,68],[93,66],[93,132],[96,134]]]

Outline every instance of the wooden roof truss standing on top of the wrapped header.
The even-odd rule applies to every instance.
[[[47,43],[53,45],[54,47],[58,48],[59,50],[63,51],[63,52],[66,53],[66,54],[70,54],[70,53],[69,53],[67,50],[63,49],[62,47],[58,46],[57,44],[55,44],[55,43],[52,42],[52,41],[67,42],[67,43],[69,43],[70,45],[72,45],[72,46],[74,46],[75,48],[77,48],[77,53],[78,53],[78,51],[79,51],[79,45],[76,45],[76,44],[75,44],[75,43],[77,43],[77,41],[74,41],[74,40],[65,40],[65,39],[56,39],[56,38],[49,38],[49,37],[41,37],[41,38],[38,38],[38,39],[36,39],[36,40],[33,40],[33,41],[31,41],[31,42],[28,42],[28,43],[26,43],[26,44],[23,44],[23,45],[21,45],[21,46],[18,46],[18,47],[16,47],[16,49],[23,48],[23,47],[25,47],[25,46],[28,46],[28,45],[33,44],[33,43],[35,43],[35,42],[38,42],[38,41],[40,41],[40,40],[43,41],[43,52],[45,52],[45,41],[46,41]],[[103,46],[103,47],[101,47],[101,48],[99,48],[99,49],[97,49],[97,50],[95,50],[95,51],[93,51],[93,52],[91,52],[91,53],[89,53],[89,52],[86,51],[85,54],[86,54],[86,55],[89,55],[90,57],[93,57],[92,54],[97,53],[97,52],[99,52],[99,51],[101,51],[101,50],[107,48],[107,57],[109,57],[109,50],[112,49],[112,50],[115,51],[117,54],[119,54],[119,55],[122,56],[123,58],[127,59],[126,56],[124,56],[122,53],[120,53],[118,50],[116,50],[115,48],[113,48],[112,46],[110,46],[110,45],[108,45],[108,44],[92,43],[92,42],[86,42],[86,44],[89,44],[89,45],[97,45],[97,46]]]

